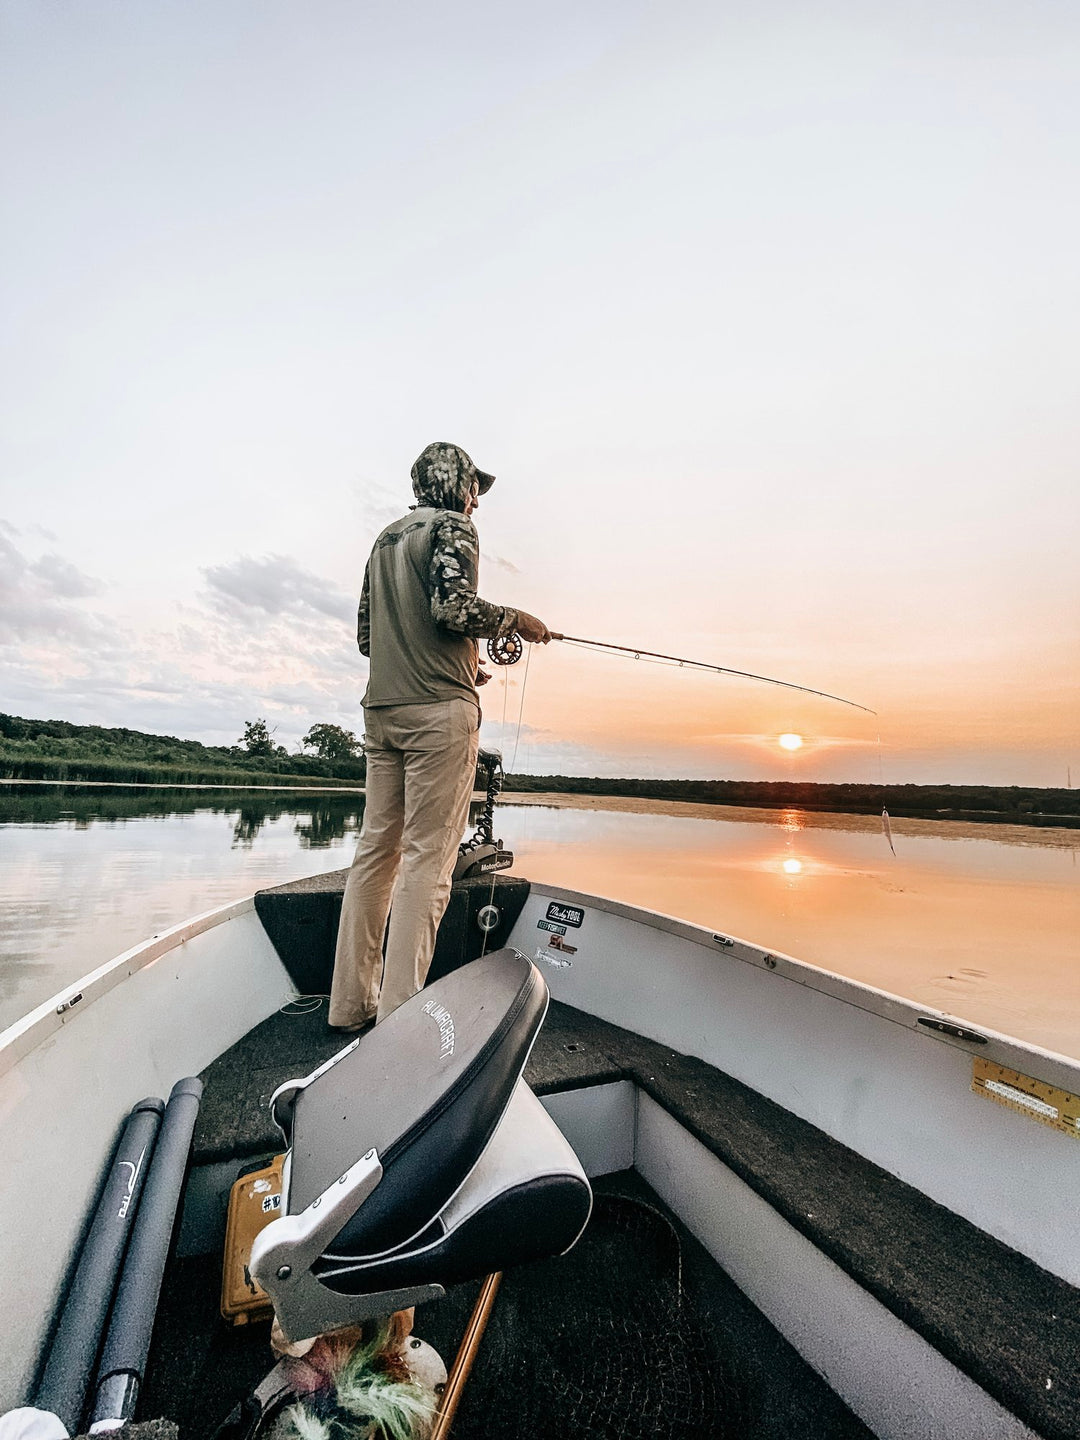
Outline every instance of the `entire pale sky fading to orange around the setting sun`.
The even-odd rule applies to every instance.
[[[518,769],[1080,785],[1076,4],[0,24],[0,710],[360,732],[448,439],[487,598],[878,711],[552,645]]]

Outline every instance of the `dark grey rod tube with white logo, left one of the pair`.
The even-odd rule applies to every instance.
[[[78,1434],[117,1276],[154,1151],[164,1102],[140,1100],[124,1123],[60,1310],[35,1404]]]

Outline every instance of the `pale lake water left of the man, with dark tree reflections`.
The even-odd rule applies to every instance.
[[[148,935],[348,864],[356,792],[0,786],[0,1027]]]

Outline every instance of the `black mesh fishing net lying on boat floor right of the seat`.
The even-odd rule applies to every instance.
[[[569,1256],[505,1274],[454,1440],[724,1440],[733,1395],[708,1351],[671,1223],[598,1195]]]

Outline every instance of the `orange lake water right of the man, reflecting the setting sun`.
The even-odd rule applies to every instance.
[[[500,811],[518,871],[1080,1056],[1074,829],[893,819],[893,854],[876,815],[570,804]]]

